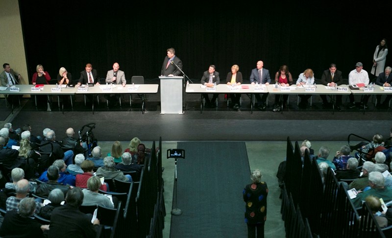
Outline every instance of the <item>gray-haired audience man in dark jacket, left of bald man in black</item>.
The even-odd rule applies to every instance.
[[[52,157],[55,160],[62,159],[62,160],[64,160],[64,162],[67,166],[72,164],[73,151],[72,150],[68,150],[66,152],[63,151],[63,149],[61,148],[61,145],[58,142],[56,142],[56,133],[54,133],[53,130],[50,130],[46,134],[45,139],[46,139],[46,141],[42,143],[44,145],[41,146],[40,151],[52,152]],[[47,143],[50,143],[53,145],[53,151],[51,151],[52,146]]]

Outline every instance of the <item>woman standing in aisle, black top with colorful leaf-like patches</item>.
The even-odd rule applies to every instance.
[[[264,238],[264,223],[267,219],[268,187],[266,182],[261,181],[261,177],[260,169],[255,169],[250,175],[252,183],[246,185],[243,191],[248,238]]]

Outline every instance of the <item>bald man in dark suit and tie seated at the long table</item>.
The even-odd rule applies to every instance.
[[[255,85],[255,83],[258,84],[265,84],[265,85],[269,85],[271,82],[271,78],[270,78],[270,71],[266,70],[263,68],[264,63],[263,61],[257,61],[256,63],[256,68],[252,70],[252,72],[250,73],[250,83],[252,85]],[[260,94],[255,94],[255,97],[257,99],[257,108],[260,110],[266,110],[267,105],[266,105],[266,101],[267,101],[267,97],[268,97],[268,93],[263,93],[263,96],[260,96]]]

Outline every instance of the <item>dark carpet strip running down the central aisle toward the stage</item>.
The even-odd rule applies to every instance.
[[[250,170],[245,143],[181,142],[177,148],[185,150],[185,159],[177,160],[177,208],[183,213],[172,215],[170,237],[246,236],[242,191]]]

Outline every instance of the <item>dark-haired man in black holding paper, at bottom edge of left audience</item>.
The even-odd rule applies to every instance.
[[[97,236],[99,220],[96,218],[91,222],[91,217],[79,211],[83,197],[82,190],[77,187],[67,193],[66,203],[54,209],[50,216],[48,238],[95,238]]]

